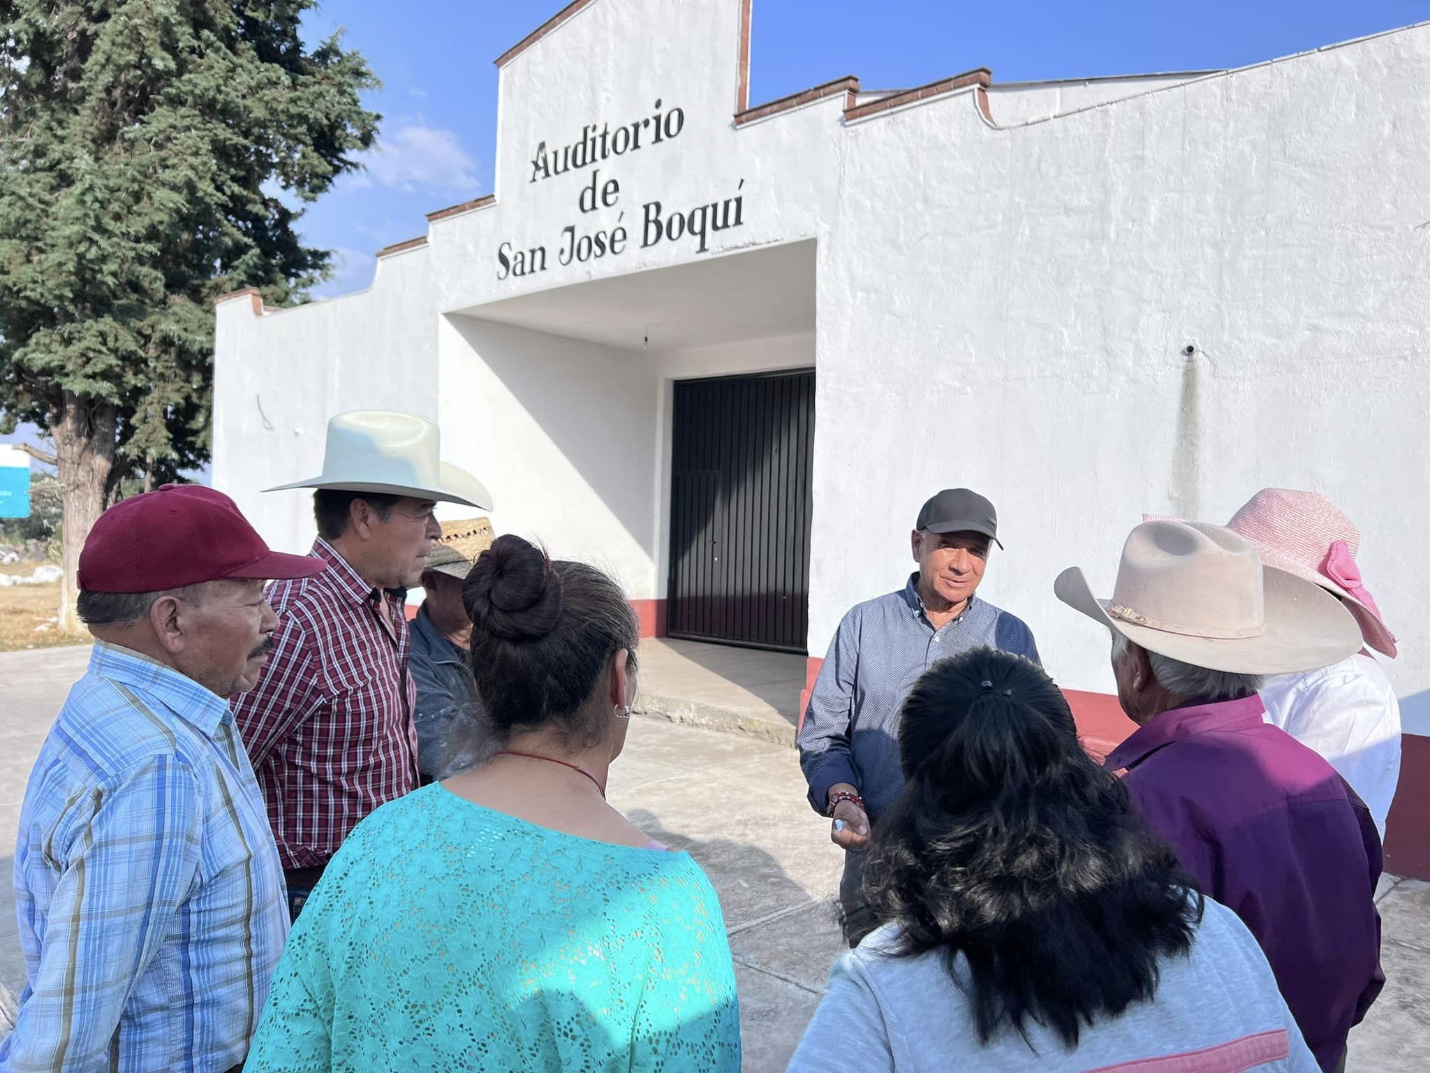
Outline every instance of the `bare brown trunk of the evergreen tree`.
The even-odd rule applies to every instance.
[[[76,575],[80,549],[104,509],[109,474],[114,468],[119,438],[119,411],[113,403],[84,399],[64,392],[64,409],[50,428],[59,456],[60,494],[64,522],[60,547],[64,552],[64,581],[60,585],[60,629],[79,632],[74,614],[79,592]]]

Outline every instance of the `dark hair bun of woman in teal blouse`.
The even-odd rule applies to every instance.
[[[541,548],[506,534],[478,557],[462,604],[478,629],[503,641],[535,641],[561,618],[561,577]]]

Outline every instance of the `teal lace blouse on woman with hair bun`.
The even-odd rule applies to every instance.
[[[343,843],[247,1070],[739,1069],[715,890],[685,853],[576,838],[440,784]]]

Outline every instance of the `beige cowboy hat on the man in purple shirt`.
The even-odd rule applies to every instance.
[[[1340,601],[1263,565],[1251,541],[1220,525],[1144,522],[1123,547],[1111,599],[1094,597],[1077,567],[1052,591],[1148,652],[1211,671],[1314,671],[1361,645]]]

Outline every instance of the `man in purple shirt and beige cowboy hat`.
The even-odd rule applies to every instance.
[[[1218,525],[1144,522],[1111,599],[1080,569],[1054,591],[1113,631],[1123,711],[1138,724],[1107,758],[1201,890],[1261,943],[1323,1070],[1380,993],[1380,837],[1320,755],[1263,721],[1266,675],[1338,662],[1361,642],[1318,585],[1264,567]]]

